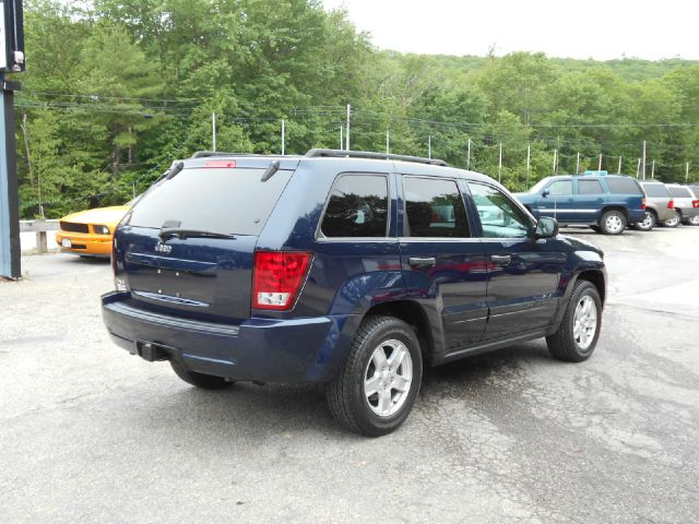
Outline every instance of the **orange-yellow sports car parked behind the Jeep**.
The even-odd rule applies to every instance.
[[[60,219],[56,243],[66,252],[91,257],[109,257],[117,225],[131,209],[129,205],[95,207]]]

